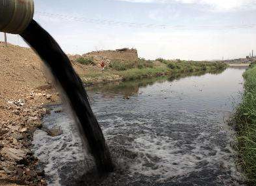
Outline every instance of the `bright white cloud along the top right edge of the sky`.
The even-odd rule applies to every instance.
[[[210,7],[213,10],[256,9],[256,0],[115,0],[131,3],[181,3]]]

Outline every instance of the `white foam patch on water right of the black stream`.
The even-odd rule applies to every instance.
[[[163,136],[139,136],[129,149],[138,155],[130,166],[131,174],[158,176],[158,181],[164,182],[202,171],[204,167],[199,164],[203,162],[211,170],[223,168],[230,170],[234,177],[241,177],[234,164],[234,155],[230,151],[224,152],[216,145],[209,147],[211,142],[208,137],[209,133],[202,132],[188,145],[191,148],[188,149],[181,140]]]

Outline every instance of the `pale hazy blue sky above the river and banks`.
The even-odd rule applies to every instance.
[[[151,60],[256,54],[256,0],[34,1],[34,19],[68,54],[124,47]],[[18,35],[7,37],[27,46]]]

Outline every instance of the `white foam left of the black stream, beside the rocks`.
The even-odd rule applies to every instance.
[[[68,115],[45,124],[60,126],[63,134],[53,137],[43,130],[36,130],[33,135],[32,151],[45,165],[45,174],[49,177],[48,185],[58,186],[61,185],[60,169],[70,162],[85,161],[85,154],[81,138],[74,128],[74,121]],[[81,175],[84,173],[81,172]]]

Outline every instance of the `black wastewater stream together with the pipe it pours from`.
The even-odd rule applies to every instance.
[[[49,67],[68,98],[79,132],[89,145],[98,172],[112,172],[112,157],[83,83],[58,43],[33,20],[33,11],[33,0],[0,0],[0,31],[19,34]]]

